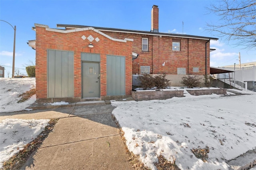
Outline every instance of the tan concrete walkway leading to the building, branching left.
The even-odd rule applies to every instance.
[[[24,164],[30,170],[130,170],[125,145],[111,117],[111,105],[75,106],[1,114],[0,120],[60,118]]]

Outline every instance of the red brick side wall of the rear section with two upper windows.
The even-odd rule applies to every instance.
[[[102,31],[111,37],[132,38],[132,51],[139,54],[132,62],[132,73],[140,73],[140,66],[150,66],[152,74],[177,74],[177,67],[186,68],[186,74],[205,74],[205,43],[208,40],[117,33]],[[142,38],[148,38],[148,51],[142,51]],[[172,51],[172,41],[180,41],[180,51]],[[207,43],[207,74],[210,74],[210,43]],[[165,66],[162,64],[165,62]],[[198,67],[199,72],[193,72]]]

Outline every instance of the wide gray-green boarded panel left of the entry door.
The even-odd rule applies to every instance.
[[[74,97],[74,53],[48,50],[48,98]]]

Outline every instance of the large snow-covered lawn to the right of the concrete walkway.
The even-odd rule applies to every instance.
[[[112,102],[128,149],[156,169],[162,154],[180,169],[228,169],[226,160],[256,148],[256,93]],[[241,91],[239,91],[241,92]],[[228,94],[232,94],[228,92]],[[207,162],[191,149],[209,147]]]

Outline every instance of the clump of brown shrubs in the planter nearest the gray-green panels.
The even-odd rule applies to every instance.
[[[170,80],[166,79],[166,74],[154,77],[150,74],[142,74],[141,76],[138,76],[138,81],[143,90],[148,90],[154,87],[160,89],[170,86]]]

